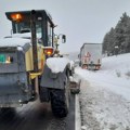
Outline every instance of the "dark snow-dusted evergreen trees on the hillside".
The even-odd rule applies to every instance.
[[[130,16],[125,12],[103,39],[103,53],[117,55],[130,52]]]

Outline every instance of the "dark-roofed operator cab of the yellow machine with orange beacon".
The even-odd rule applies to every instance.
[[[6,17],[12,22],[13,34],[30,34],[35,29],[36,37],[44,47],[53,47],[54,24],[52,17],[44,10],[6,12]],[[34,17],[32,17],[34,16]],[[31,22],[35,27],[31,28]],[[31,35],[30,35],[31,37]]]

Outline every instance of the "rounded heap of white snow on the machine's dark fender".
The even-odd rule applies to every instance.
[[[69,60],[66,57],[50,57],[47,60],[47,65],[51,69],[52,73],[62,73],[64,72],[67,64],[69,64]]]

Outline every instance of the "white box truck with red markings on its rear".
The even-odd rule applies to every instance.
[[[83,69],[99,70],[102,64],[102,43],[83,43],[79,60]]]

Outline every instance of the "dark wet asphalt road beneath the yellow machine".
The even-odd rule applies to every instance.
[[[75,96],[66,118],[55,118],[50,104],[39,101],[0,112],[0,130],[75,130]]]

